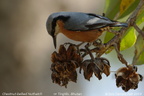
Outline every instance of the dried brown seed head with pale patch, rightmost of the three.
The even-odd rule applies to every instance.
[[[143,78],[136,71],[137,67],[132,65],[119,68],[115,74],[116,86],[121,86],[126,92],[130,89],[137,89],[139,81],[142,81]]]

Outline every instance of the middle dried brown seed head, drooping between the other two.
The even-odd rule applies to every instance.
[[[104,73],[106,76],[109,76],[110,63],[106,58],[95,58],[95,61],[89,59],[82,63],[81,69],[84,71],[85,79],[90,80],[94,73],[95,76],[100,80],[102,79],[102,73]]]

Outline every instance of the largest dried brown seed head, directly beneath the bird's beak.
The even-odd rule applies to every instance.
[[[53,62],[51,65],[53,83],[67,87],[69,81],[77,81],[76,68],[80,66],[82,57],[73,45],[69,45],[67,49],[61,45],[58,53],[52,53],[51,61]]]

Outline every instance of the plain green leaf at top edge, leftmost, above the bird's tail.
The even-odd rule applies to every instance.
[[[104,10],[106,17],[110,19],[114,19],[116,14],[119,12],[120,2],[121,0],[106,0],[105,10]]]

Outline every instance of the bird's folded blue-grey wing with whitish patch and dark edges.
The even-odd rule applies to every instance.
[[[71,13],[71,17],[65,22],[64,27],[72,31],[86,31],[103,28],[114,23],[114,21],[100,15]]]

